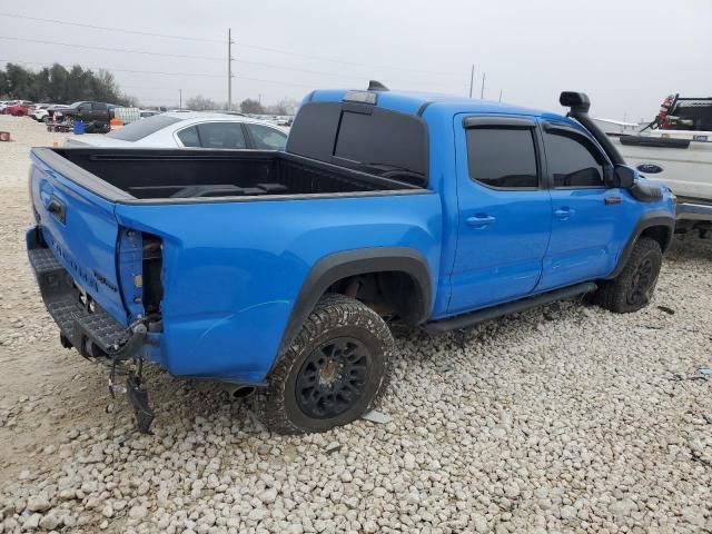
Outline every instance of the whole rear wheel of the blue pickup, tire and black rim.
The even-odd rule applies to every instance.
[[[260,419],[280,434],[325,432],[360,417],[386,389],[394,342],[373,309],[326,295],[281,354],[257,396]]]

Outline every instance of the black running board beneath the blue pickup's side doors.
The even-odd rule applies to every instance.
[[[584,293],[591,293],[596,289],[596,285],[593,281],[586,281],[583,284],[576,284],[575,286],[564,287],[554,291],[543,293],[534,297],[524,298],[522,300],[515,300],[513,303],[502,304],[492,308],[478,309],[466,315],[458,315],[449,319],[436,320],[425,325],[425,332],[428,334],[444,334],[449,330],[458,330],[461,328],[467,328],[483,323],[485,320],[496,319],[504,315],[516,314],[524,312],[525,309],[543,306],[544,304],[554,303],[556,300],[563,300],[565,298],[583,295]]]

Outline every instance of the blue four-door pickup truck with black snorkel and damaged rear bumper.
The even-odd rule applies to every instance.
[[[312,92],[284,152],[36,148],[30,264],[62,345],[128,386],[144,432],[145,360],[255,392],[277,432],[325,431],[386,388],[389,322],[647,304],[674,197],[624,165],[585,95],[561,103],[373,83]]]

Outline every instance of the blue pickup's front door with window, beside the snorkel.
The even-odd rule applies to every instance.
[[[542,136],[553,215],[540,286],[547,290],[612,270],[624,195],[606,188],[604,172],[611,164],[586,134],[565,123],[543,122]]]

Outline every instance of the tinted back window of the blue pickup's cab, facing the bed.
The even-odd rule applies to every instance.
[[[426,187],[428,137],[416,116],[350,102],[299,109],[287,151]]]

